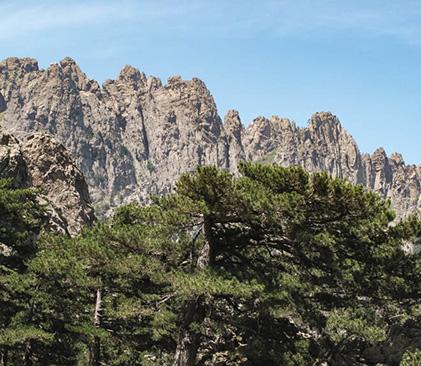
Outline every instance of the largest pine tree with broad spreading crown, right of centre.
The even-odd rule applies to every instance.
[[[340,334],[378,334],[394,307],[419,298],[404,282],[417,278],[415,261],[391,233],[390,202],[301,168],[245,163],[240,173],[201,167],[182,175],[176,194],[156,198],[149,217],[120,210],[127,222],[173,228],[172,241],[190,235],[190,253],[171,275],[183,309],[174,366],[195,365],[200,347],[203,363],[230,342],[240,359],[310,363]],[[332,314],[345,321],[328,322]],[[356,326],[373,317],[379,329]]]

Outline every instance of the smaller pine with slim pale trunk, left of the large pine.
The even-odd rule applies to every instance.
[[[136,365],[151,352],[174,347],[165,273],[179,254],[175,244],[172,252],[162,247],[170,239],[163,240],[166,231],[159,231],[115,220],[71,239],[41,238],[27,276],[39,280],[37,308],[51,314],[38,311],[32,325],[53,338],[37,344],[37,362],[42,354],[50,364],[71,365],[77,355],[84,365]],[[66,352],[60,339],[66,339]]]

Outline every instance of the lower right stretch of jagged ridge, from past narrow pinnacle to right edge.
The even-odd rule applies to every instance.
[[[245,131],[243,141],[249,160],[328,171],[390,198],[398,217],[421,213],[421,165],[405,165],[400,154],[388,158],[382,148],[371,156],[361,154],[330,112],[314,114],[308,127],[301,129],[288,119],[259,117]]]

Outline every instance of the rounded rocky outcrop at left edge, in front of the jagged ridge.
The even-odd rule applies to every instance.
[[[46,225],[56,232],[77,235],[95,221],[82,172],[51,136],[36,134],[21,143],[0,129],[0,177],[13,179],[16,188],[40,188]]]

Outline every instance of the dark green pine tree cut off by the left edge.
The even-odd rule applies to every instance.
[[[15,292],[11,282],[25,273],[25,262],[36,252],[35,237],[42,219],[42,207],[36,201],[36,193],[30,188],[15,189],[11,180],[0,179],[0,352],[3,365],[8,364],[9,350],[16,343],[25,347],[28,359],[32,339],[37,336],[31,329],[22,327],[7,331],[14,317],[26,306],[25,296]]]

